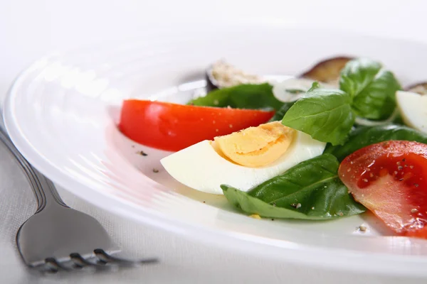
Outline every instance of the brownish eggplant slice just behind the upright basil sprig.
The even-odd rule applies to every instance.
[[[334,58],[327,58],[318,62],[307,72],[302,73],[300,77],[315,80],[324,83],[336,83],[339,80],[339,75],[342,68],[353,60],[353,57],[349,56],[337,56]]]

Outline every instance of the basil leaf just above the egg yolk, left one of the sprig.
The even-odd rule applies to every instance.
[[[290,107],[282,124],[318,141],[342,144],[354,124],[350,104],[349,94],[339,89],[312,89]]]

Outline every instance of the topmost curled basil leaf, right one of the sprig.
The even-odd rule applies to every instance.
[[[382,120],[396,108],[395,94],[401,86],[379,62],[357,59],[347,62],[342,69],[339,89],[353,98],[352,107],[357,115]]]

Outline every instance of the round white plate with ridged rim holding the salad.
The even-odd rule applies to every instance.
[[[204,87],[204,69],[218,58],[248,72],[297,75],[333,55],[381,60],[403,84],[427,79],[421,43],[280,26],[179,26],[41,58],[14,83],[4,119],[38,170],[111,212],[284,261],[427,275],[427,241],[386,236],[391,233],[369,214],[329,222],[251,219],[223,196],[179,185],[159,163],[168,152],[117,131],[122,99],[186,102]],[[361,224],[369,231],[357,231]]]

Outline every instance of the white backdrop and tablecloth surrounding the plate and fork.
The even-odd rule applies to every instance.
[[[267,21],[322,26],[427,41],[427,4],[408,1],[53,1],[0,3],[0,99],[14,77],[36,58],[105,38],[128,38],[156,25],[201,21]],[[404,60],[404,57],[402,57]],[[426,60],[421,58],[420,60]],[[6,163],[7,157],[3,159]],[[9,163],[9,162],[8,162]],[[14,171],[12,171],[14,172]],[[4,283],[401,283],[401,278],[326,271],[248,258],[128,222],[60,190],[71,207],[100,220],[125,249],[159,256],[162,263],[105,275],[40,279],[19,262],[14,234],[35,204],[25,183],[0,175],[0,279]],[[19,173],[13,173],[19,178]],[[339,262],[339,259],[337,259]],[[6,278],[3,278],[6,277]],[[422,282],[420,280],[420,282]]]

